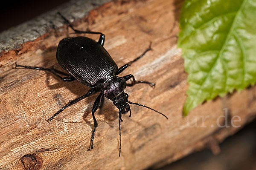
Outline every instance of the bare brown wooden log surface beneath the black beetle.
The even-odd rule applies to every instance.
[[[67,26],[0,55],[0,169],[145,169],[160,167],[205,147],[218,153],[218,142],[232,135],[256,115],[255,86],[201,104],[185,118],[187,74],[181,49],[176,46],[181,1],[112,1],[74,23],[106,35],[105,49],[118,66],[133,60],[152,42],[148,52],[122,75],[156,83],[127,87],[129,100],[165,113],[131,106],[123,116],[122,153],[119,154],[118,110],[109,100],[96,112],[94,149],[88,150],[93,128],[91,108],[97,95],[65,109],[52,124],[50,118],[69,100],[83,95],[87,86],[62,82],[22,65],[54,67],[58,42],[76,36]],[[97,39],[97,35],[86,35]]]

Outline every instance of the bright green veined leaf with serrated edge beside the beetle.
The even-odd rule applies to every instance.
[[[256,0],[185,0],[178,47],[189,73],[183,115],[256,82]]]

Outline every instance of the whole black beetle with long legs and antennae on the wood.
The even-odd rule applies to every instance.
[[[151,43],[148,49],[146,49],[142,55],[135,58],[133,61],[130,61],[125,65],[121,66],[120,68],[118,68],[115,61],[113,61],[111,56],[108,54],[107,50],[103,47],[105,42],[104,34],[102,34],[101,32],[79,31],[77,29],[74,29],[71,23],[61,13],[58,12],[58,14],[65,20],[67,25],[71,29],[73,29],[74,33],[99,34],[100,35],[99,40],[95,41],[88,37],[79,36],[79,37],[67,37],[62,39],[59,42],[57,47],[57,52],[56,52],[56,58],[58,63],[63,67],[63,69],[69,73],[68,77],[61,77],[54,69],[46,69],[43,67],[23,66],[15,63],[15,68],[23,67],[26,69],[46,70],[56,75],[62,81],[78,80],[81,83],[85,84],[86,86],[90,87],[89,91],[85,95],[82,95],[79,98],[76,98],[70,101],[64,107],[62,107],[57,112],[55,112],[55,114],[52,115],[51,118],[47,119],[50,123],[52,123],[52,119],[55,116],[57,116],[60,112],[62,112],[64,109],[66,109],[70,105],[75,104],[78,101],[81,101],[82,99],[96,92],[100,92],[93,104],[93,109],[92,109],[94,126],[93,126],[93,131],[91,136],[90,149],[93,149],[94,135],[96,132],[96,127],[98,126],[94,113],[99,108],[99,103],[101,101],[101,98],[105,96],[106,98],[113,101],[113,104],[119,109],[119,156],[120,156],[122,114],[126,114],[130,112],[129,117],[131,117],[131,109],[129,104],[146,107],[167,118],[166,115],[164,115],[161,112],[158,112],[155,109],[152,109],[143,104],[129,101],[128,94],[124,92],[127,86],[126,81],[128,81],[129,79],[132,79],[131,86],[138,83],[144,83],[144,84],[149,84],[150,86],[155,86],[154,83],[151,83],[148,81],[136,81],[134,78],[134,75],[131,75],[131,74],[125,75],[123,77],[117,76],[122,71],[124,71],[128,66],[130,66],[132,63],[142,58],[146,54],[146,52],[151,50]]]

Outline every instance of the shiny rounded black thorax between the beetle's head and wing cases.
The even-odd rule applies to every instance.
[[[114,75],[102,84],[102,91],[106,98],[113,99],[126,88],[124,78]]]

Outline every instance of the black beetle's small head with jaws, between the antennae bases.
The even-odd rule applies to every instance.
[[[113,98],[113,104],[119,109],[119,113],[125,114],[128,111],[131,112],[128,102],[128,94],[122,91],[119,95]]]

